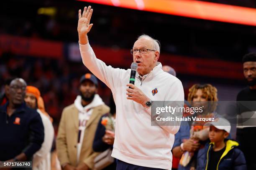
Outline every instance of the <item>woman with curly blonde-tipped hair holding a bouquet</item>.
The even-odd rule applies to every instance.
[[[190,114],[193,117],[214,117],[217,101],[217,89],[210,84],[195,84],[189,88],[190,105],[203,108],[200,114],[198,112],[194,115]],[[191,125],[182,122],[178,133],[175,134],[172,150],[174,157],[181,158],[178,170],[195,169],[197,151],[208,139],[208,131],[208,128],[203,129],[202,122],[194,121]]]

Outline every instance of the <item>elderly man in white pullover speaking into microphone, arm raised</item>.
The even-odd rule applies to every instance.
[[[131,53],[138,63],[135,85],[128,84],[131,69],[107,66],[96,58],[88,42],[92,9],[79,10],[79,47],[84,65],[112,91],[116,104],[115,142],[112,156],[118,159],[117,170],[172,169],[172,145],[179,125],[151,126],[152,101],[184,101],[182,83],[164,72],[157,62],[157,40],[142,35]],[[131,87],[131,88],[128,88]]]

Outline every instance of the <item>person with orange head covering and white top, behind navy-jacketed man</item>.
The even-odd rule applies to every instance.
[[[44,124],[44,143],[40,150],[33,155],[33,170],[51,169],[51,146],[54,140],[54,128],[50,116],[44,110],[44,101],[38,88],[26,87],[25,102],[28,107],[36,109]]]

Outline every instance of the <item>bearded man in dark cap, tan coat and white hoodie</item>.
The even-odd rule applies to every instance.
[[[64,108],[56,148],[61,168],[65,170],[93,169],[92,144],[100,117],[109,112],[97,94],[98,81],[95,75],[87,73],[80,79],[79,91],[74,104]]]

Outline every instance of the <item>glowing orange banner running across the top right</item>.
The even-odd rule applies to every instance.
[[[199,0],[79,0],[155,13],[256,26],[256,9]],[[91,4],[90,4],[91,5]]]

